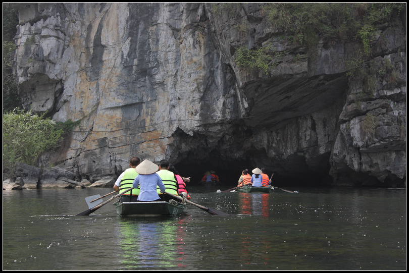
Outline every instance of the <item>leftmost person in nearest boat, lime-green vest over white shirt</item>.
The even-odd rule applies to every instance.
[[[135,171],[136,166],[138,166],[140,163],[139,157],[132,157],[129,160],[129,167],[123,172],[117,179],[114,185],[114,190],[119,191],[119,193],[124,192],[125,190],[129,189],[132,187],[133,180],[138,176],[138,173]],[[121,196],[121,202],[132,202],[136,201],[138,199],[139,195],[139,188],[135,188],[133,190],[130,190],[126,193],[124,193]]]

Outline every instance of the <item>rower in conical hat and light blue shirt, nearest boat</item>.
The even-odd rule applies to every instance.
[[[158,170],[159,166],[147,159],[136,166],[135,171],[139,175],[133,181],[132,186],[135,189],[138,185],[140,186],[138,201],[161,201],[156,188],[159,186],[161,192],[165,192],[166,189],[161,177],[156,173]]]

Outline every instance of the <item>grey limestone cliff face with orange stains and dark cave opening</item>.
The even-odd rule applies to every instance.
[[[264,167],[305,183],[406,179],[400,18],[379,29],[367,92],[347,75],[348,44],[321,40],[307,58],[268,25],[261,4],[234,15],[199,3],[11,5],[23,105],[81,120],[48,161],[83,179],[116,177],[134,155],[186,172]],[[234,62],[237,20],[251,29],[248,48],[270,43],[282,52],[267,75]]]

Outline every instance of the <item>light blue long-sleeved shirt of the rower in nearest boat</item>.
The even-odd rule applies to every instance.
[[[139,174],[134,180],[132,187],[135,189],[140,185],[138,201],[155,201],[159,199],[156,186],[159,186],[161,192],[165,192],[165,185],[158,174],[141,175]]]

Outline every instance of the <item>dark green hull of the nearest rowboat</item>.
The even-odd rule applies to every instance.
[[[151,202],[118,202],[115,208],[120,216],[163,216],[179,215],[183,212],[185,204],[175,200]]]

